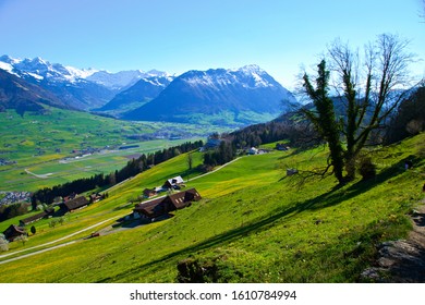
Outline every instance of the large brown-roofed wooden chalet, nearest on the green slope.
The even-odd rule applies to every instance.
[[[154,219],[166,216],[171,211],[183,209],[190,206],[192,202],[201,199],[199,193],[195,188],[191,188],[147,203],[137,204],[133,211],[136,218]]]

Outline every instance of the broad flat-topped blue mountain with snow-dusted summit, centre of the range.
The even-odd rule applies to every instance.
[[[189,71],[177,77],[153,101],[124,114],[129,120],[195,122],[199,115],[229,113],[234,122],[250,117],[277,117],[296,102],[266,71],[257,65],[233,70]]]

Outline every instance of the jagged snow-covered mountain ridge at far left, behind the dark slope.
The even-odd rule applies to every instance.
[[[90,110],[109,102],[120,90],[142,77],[165,76],[166,72],[121,71],[110,73],[95,69],[76,69],[50,63],[39,57],[14,59],[0,57],[0,69],[57,95],[71,108]]]

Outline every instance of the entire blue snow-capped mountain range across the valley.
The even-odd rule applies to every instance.
[[[294,96],[257,65],[189,71],[180,76],[151,70],[110,73],[50,63],[41,58],[0,57],[3,108],[31,105],[96,111],[124,120],[248,124],[272,119],[296,102]],[[9,84],[9,85],[7,85]],[[8,86],[8,89],[4,87]],[[20,91],[20,94],[17,94]],[[15,95],[17,94],[17,96]]]

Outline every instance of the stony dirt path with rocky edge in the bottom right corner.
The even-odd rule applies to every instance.
[[[377,267],[365,270],[365,278],[387,283],[425,282],[425,199],[411,218],[409,237],[381,244]]]

